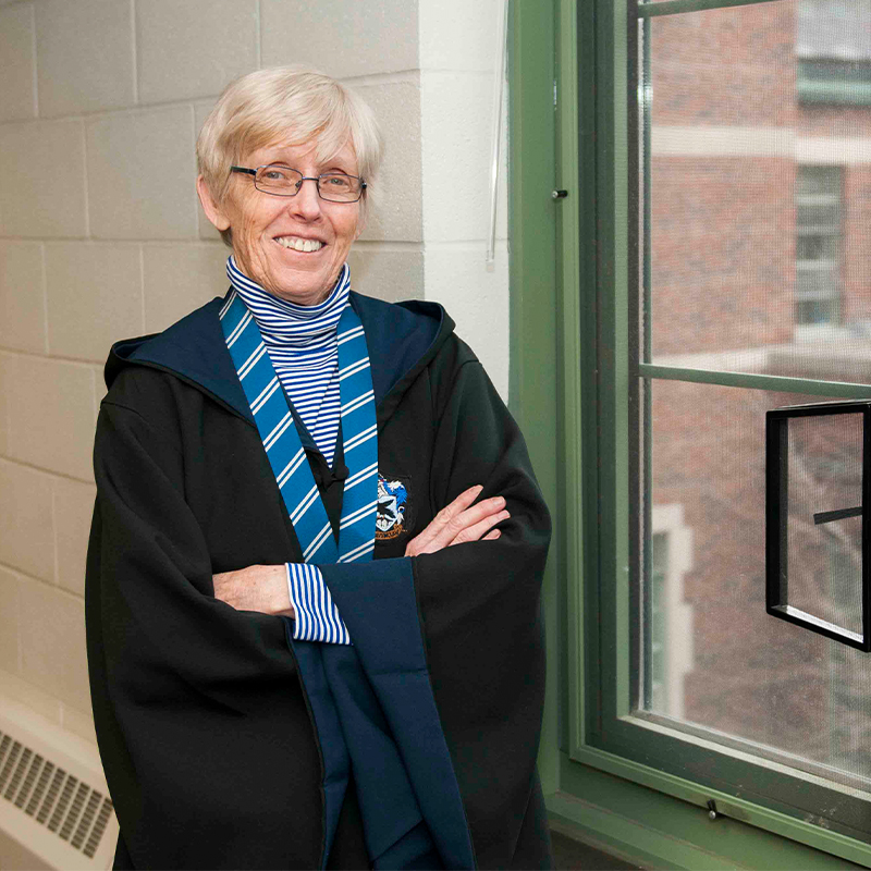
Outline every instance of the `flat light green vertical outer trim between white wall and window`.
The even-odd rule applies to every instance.
[[[556,177],[553,2],[511,0],[508,34],[508,406],[555,516],[556,214],[561,201],[552,197]],[[539,773],[545,790],[555,788],[559,776],[559,529],[554,529],[542,591],[548,677]]]

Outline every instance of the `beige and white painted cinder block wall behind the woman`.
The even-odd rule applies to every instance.
[[[0,0],[0,706],[94,740],[83,592],[102,361],[223,293],[194,140],[234,76],[308,63],[369,100],[388,154],[354,285],[445,302],[506,391],[504,217],[484,267],[499,5]]]

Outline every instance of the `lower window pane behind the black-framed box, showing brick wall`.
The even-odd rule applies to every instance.
[[[765,412],[820,397],[647,387],[651,538],[639,709],[864,794],[871,659],[765,613]],[[846,419],[856,416],[841,417],[790,433],[790,462],[803,469],[790,494],[790,535],[803,565],[790,564],[789,594],[856,629],[860,520],[812,520],[858,499],[860,428]]]

